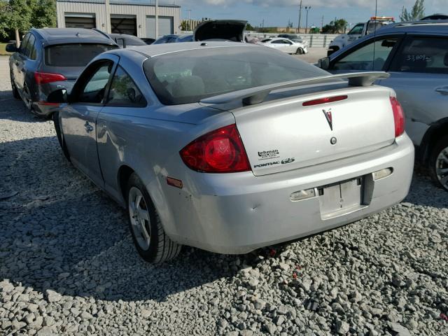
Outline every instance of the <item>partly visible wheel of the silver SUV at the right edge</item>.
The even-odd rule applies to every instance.
[[[429,174],[437,186],[448,191],[448,136],[435,143],[429,159]]]

